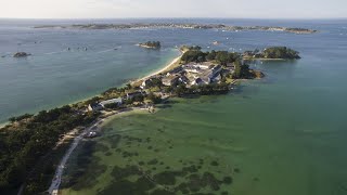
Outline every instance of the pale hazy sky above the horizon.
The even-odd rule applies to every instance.
[[[347,18],[347,0],[0,0],[4,18]]]

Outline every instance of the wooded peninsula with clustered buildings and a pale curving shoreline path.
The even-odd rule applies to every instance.
[[[241,53],[204,52],[201,47],[180,50],[182,55],[166,68],[123,88],[36,115],[10,118],[10,123],[0,129],[0,188],[4,193],[56,192],[69,155],[80,140],[98,135],[105,118],[133,109],[151,113],[154,104],[172,96],[226,94],[240,79],[265,76],[250,69]]]

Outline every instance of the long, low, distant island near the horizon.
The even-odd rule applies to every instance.
[[[285,31],[292,34],[314,34],[318,30],[279,26],[228,26],[224,24],[177,24],[177,23],[137,23],[137,24],[76,24],[76,25],[41,25],[34,28],[70,28],[70,29],[136,29],[136,28],[182,28],[182,29],[220,29],[228,31],[264,30]]]

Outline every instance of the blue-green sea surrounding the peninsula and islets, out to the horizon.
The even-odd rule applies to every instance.
[[[90,23],[319,32],[33,28]],[[162,49],[136,46],[149,40]],[[242,81],[226,95],[172,99],[154,114],[115,117],[77,147],[63,194],[347,194],[346,20],[0,20],[0,121],[124,86],[164,67],[182,44],[230,52],[285,46],[301,58],[249,62],[264,79]],[[12,57],[18,51],[31,55]]]

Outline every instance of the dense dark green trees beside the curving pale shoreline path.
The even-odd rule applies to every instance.
[[[46,191],[56,166],[48,154],[64,133],[89,126],[98,116],[98,113],[79,114],[66,105],[35,116],[12,117],[12,123],[0,131],[0,192],[18,188],[23,182],[24,194]]]

